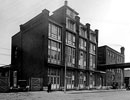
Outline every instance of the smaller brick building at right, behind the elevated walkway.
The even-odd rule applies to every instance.
[[[105,68],[106,65],[122,64],[125,61],[124,47],[121,47],[121,53],[105,45],[98,48],[98,69],[106,72],[107,86],[117,83],[119,88],[124,83],[124,68]],[[104,66],[104,68],[103,68]]]

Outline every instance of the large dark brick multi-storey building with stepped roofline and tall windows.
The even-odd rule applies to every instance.
[[[27,80],[31,90],[48,82],[58,90],[64,87],[66,66],[67,89],[101,86],[97,47],[98,30],[80,23],[78,13],[65,1],[51,16],[44,9],[20,25],[20,32],[12,37],[11,75],[16,72],[18,80]]]

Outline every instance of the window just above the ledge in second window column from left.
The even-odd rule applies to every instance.
[[[66,46],[66,63],[71,67],[75,65],[75,49],[68,46]]]

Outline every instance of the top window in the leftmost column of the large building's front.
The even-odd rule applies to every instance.
[[[61,27],[49,23],[49,37],[61,41]]]

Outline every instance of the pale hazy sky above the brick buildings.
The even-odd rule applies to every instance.
[[[125,62],[130,62],[130,0],[68,0],[79,13],[82,24],[99,30],[99,46],[108,45],[120,52],[125,47]],[[11,37],[19,25],[48,9],[50,15],[64,0],[0,0],[0,66],[11,63]]]

